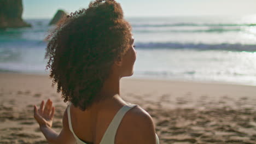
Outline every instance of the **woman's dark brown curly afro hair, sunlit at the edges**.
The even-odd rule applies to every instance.
[[[129,49],[131,37],[131,26],[114,0],[90,2],[88,9],[62,20],[46,37],[45,58],[52,86],[57,83],[64,102],[84,111],[104,99],[104,80],[114,61]]]

